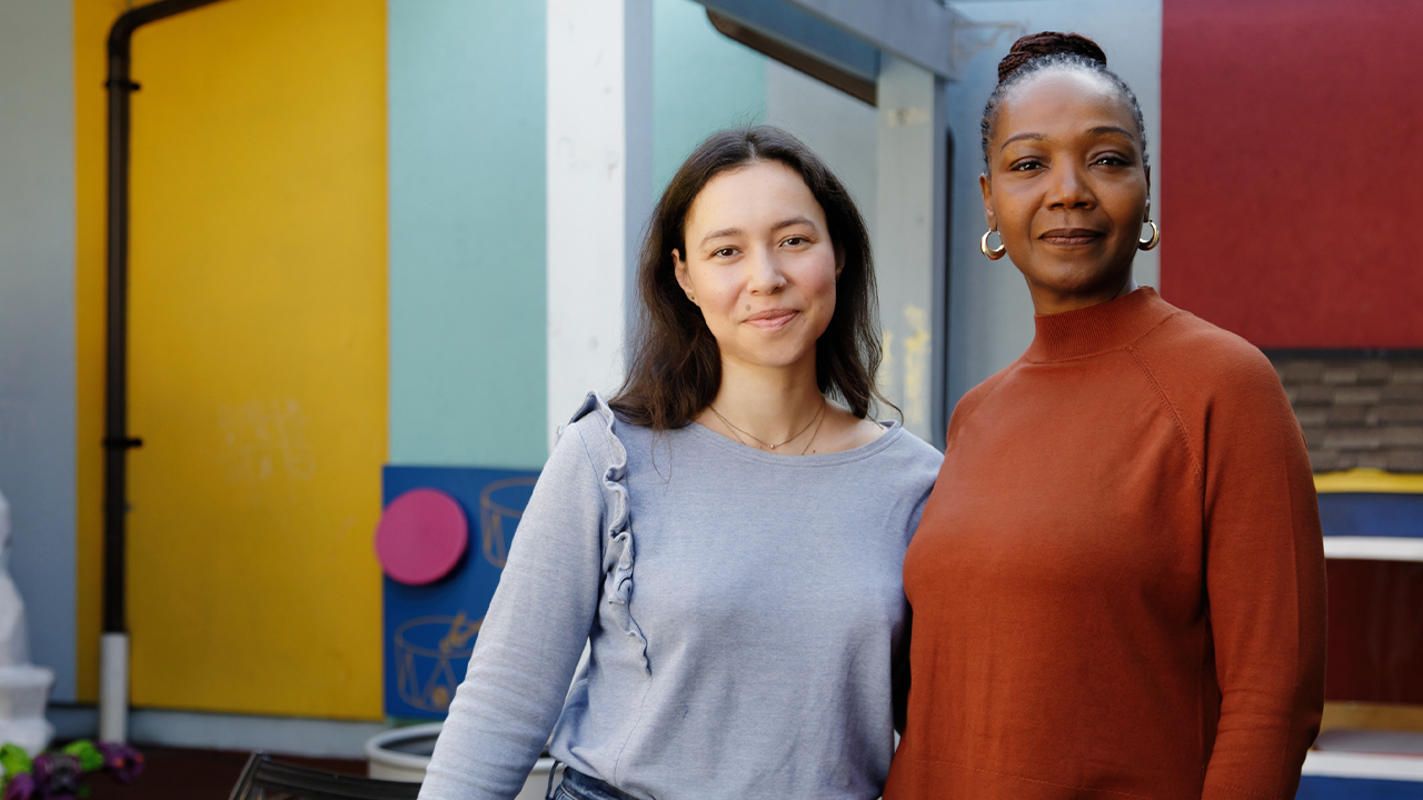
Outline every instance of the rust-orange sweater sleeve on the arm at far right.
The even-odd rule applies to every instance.
[[[1319,732],[1325,561],[1303,436],[1254,347],[1224,353],[1205,410],[1205,581],[1221,705],[1207,800],[1295,797]]]

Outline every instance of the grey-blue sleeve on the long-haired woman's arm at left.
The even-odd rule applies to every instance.
[[[509,545],[421,800],[511,799],[564,707],[598,605],[603,495],[565,428]]]

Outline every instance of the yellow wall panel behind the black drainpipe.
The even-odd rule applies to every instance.
[[[95,695],[104,38],[75,0],[80,690]],[[223,0],[134,46],[135,706],[376,719],[386,9]]]

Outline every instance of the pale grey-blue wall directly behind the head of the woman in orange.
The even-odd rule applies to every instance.
[[[1107,51],[1107,64],[1131,85],[1147,122],[1151,159],[1151,214],[1161,221],[1161,0],[1007,0],[959,1],[952,6],[976,21],[1016,21],[1026,33],[1076,31]],[[1007,259],[990,262],[979,253],[988,229],[978,175],[983,169],[979,121],[983,101],[998,83],[998,61],[1012,36],[978,53],[963,80],[949,84],[949,128],[953,132],[953,218],[949,317],[949,401],[1007,366],[1033,340],[1033,305],[1023,276]],[[1163,233],[1168,239],[1170,232]],[[1136,278],[1154,286],[1158,253],[1138,253]]]

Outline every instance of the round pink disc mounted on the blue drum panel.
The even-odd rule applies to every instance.
[[[470,521],[448,494],[413,488],[390,501],[376,525],[376,559],[414,586],[444,578],[470,545]]]

